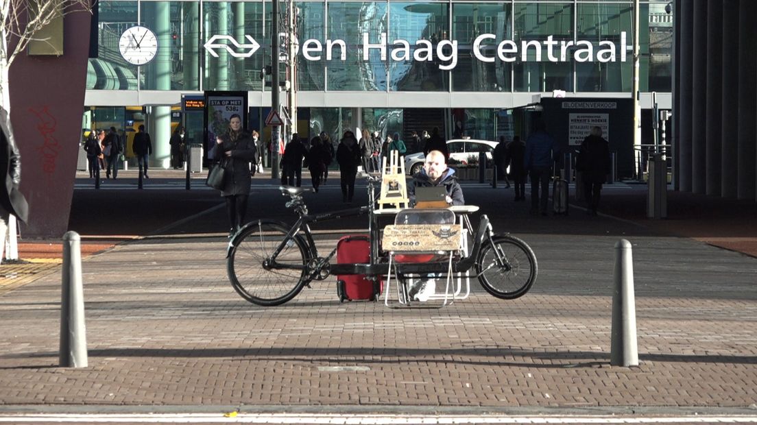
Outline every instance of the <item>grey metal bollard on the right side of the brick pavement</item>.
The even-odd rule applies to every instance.
[[[634,265],[631,242],[621,239],[615,244],[615,292],[612,294],[612,337],[610,365],[638,366],[636,341],[636,307],[634,301]]]

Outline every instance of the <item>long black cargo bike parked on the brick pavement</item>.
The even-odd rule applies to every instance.
[[[378,218],[396,214],[407,219],[412,217],[412,211],[376,209],[375,186],[381,181],[381,176],[361,176],[367,180],[368,205],[330,213],[308,212],[304,194],[310,192],[309,189],[279,187],[282,195],[290,198],[286,206],[297,214],[298,219],[292,225],[276,219],[257,219],[232,237],[226,259],[229,281],[236,292],[258,306],[279,306],[297,296],[304,287],[310,287],[313,281],[324,281],[334,275],[362,275],[374,286],[373,293],[376,295],[372,299],[378,298],[382,284],[387,280],[385,303],[388,305],[389,284],[394,277],[399,304],[410,306],[412,300],[408,296],[408,287],[413,279],[423,276],[447,276],[444,304],[467,297],[470,293],[469,283],[462,290],[459,282],[469,282],[471,277],[477,278],[484,290],[500,299],[516,299],[527,293],[536,281],[537,259],[525,241],[511,234],[495,234],[486,215],[481,215],[478,227],[475,232],[472,231],[469,213],[477,211],[477,206],[450,207],[450,211],[459,214],[460,225],[455,229],[463,231],[459,249],[442,256],[443,261],[412,261],[418,258],[419,253],[410,254],[407,250],[382,247],[382,234],[385,232],[379,228]],[[310,225],[347,216],[368,216],[367,262],[338,263],[335,262],[336,248],[326,255],[318,249]],[[443,234],[445,227],[441,225],[437,229]],[[393,230],[397,233],[402,229],[397,227]],[[411,261],[400,262],[399,254],[410,257]],[[458,282],[451,292],[450,279]],[[339,297],[344,298],[341,293]]]

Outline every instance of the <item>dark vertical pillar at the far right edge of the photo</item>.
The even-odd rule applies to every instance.
[[[757,138],[757,3],[739,2],[739,132],[738,184],[739,199],[755,199],[755,138]]]

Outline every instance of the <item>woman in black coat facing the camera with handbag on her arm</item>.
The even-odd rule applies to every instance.
[[[226,199],[229,214],[229,237],[245,224],[247,201],[250,196],[250,163],[254,162],[257,149],[252,135],[241,129],[241,117],[234,114],[229,119],[229,132],[216,138],[213,158],[226,169],[221,196]]]

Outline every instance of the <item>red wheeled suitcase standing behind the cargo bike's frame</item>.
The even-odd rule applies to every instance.
[[[367,235],[341,237],[336,245],[336,262],[367,263],[370,261],[371,244]],[[366,275],[337,275],[336,292],[339,301],[366,299],[375,301],[382,293],[384,282],[381,278],[372,281]]]

